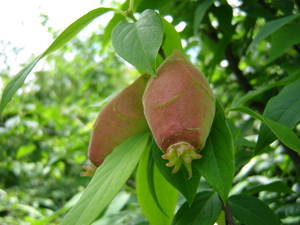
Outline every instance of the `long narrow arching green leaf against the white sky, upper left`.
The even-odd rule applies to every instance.
[[[106,12],[112,11],[112,8],[97,8],[84,16],[80,17],[70,26],[68,26],[54,41],[53,43],[37,58],[35,58],[30,64],[22,69],[4,88],[0,102],[0,114],[4,110],[7,103],[11,100],[17,90],[24,84],[24,81],[35,65],[46,55],[54,52],[62,47],[68,41],[70,41],[76,34],[78,34],[84,27],[100,15]]]

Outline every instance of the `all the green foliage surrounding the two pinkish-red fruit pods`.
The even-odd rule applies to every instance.
[[[0,71],[0,224],[299,224],[299,1],[119,5],[80,17],[12,79],[9,65]],[[106,27],[75,37],[109,11]],[[99,109],[174,49],[219,99],[193,177],[172,174],[149,134],[80,176]]]

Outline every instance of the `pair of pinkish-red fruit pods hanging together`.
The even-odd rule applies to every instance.
[[[201,158],[215,115],[215,98],[206,78],[179,51],[158,68],[157,76],[142,75],[100,112],[89,146],[89,158],[99,166],[127,138],[148,126],[176,173]]]

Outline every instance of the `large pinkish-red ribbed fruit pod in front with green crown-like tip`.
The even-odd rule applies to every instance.
[[[174,166],[183,164],[192,176],[191,161],[201,158],[215,115],[215,98],[206,78],[179,51],[168,57],[158,76],[148,82],[144,112],[157,145]]]

